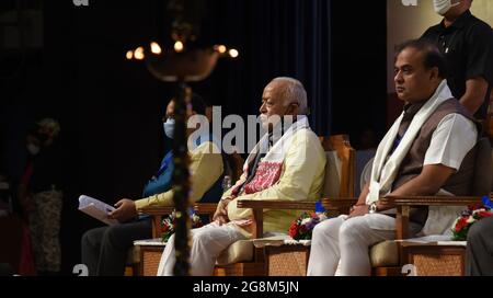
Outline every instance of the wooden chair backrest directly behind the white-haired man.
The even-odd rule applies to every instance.
[[[325,150],[323,197],[354,197],[355,150],[347,135],[320,137]]]

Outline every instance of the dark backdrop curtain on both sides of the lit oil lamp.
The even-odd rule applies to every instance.
[[[330,72],[330,12],[335,3],[204,1],[200,36],[237,47],[240,57],[220,60],[193,89],[222,105],[223,115],[257,115],[263,88],[273,78],[297,78],[308,92],[313,129],[329,135],[332,123],[337,124],[331,115]],[[60,121],[67,274],[80,262],[82,232],[96,225],[77,210],[78,196],[107,203],[138,198],[162,158],[161,117],[175,85],[156,80],[142,64],[127,61],[125,53],[164,34],[160,24],[165,20],[156,15],[165,3],[90,1],[89,8],[77,8],[71,1],[44,1],[43,47],[30,54],[19,76],[0,80],[0,171],[4,168],[12,179],[22,173],[16,156],[34,119],[49,115]],[[1,62],[1,70],[9,72]]]

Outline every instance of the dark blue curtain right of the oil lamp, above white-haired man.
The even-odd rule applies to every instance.
[[[208,1],[202,35],[240,50],[193,85],[228,114],[259,114],[263,88],[275,77],[300,80],[307,89],[310,122],[331,133],[331,1]]]

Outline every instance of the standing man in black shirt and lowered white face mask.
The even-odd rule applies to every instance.
[[[493,84],[493,30],[471,14],[472,0],[433,0],[443,21],[421,37],[445,55],[452,95],[480,121],[488,115]]]

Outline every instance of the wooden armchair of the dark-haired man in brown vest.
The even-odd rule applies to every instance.
[[[419,206],[468,206],[482,202],[482,195],[492,190],[493,165],[491,146],[486,138],[478,144],[478,156],[472,185],[473,196],[421,196],[421,197],[382,197],[382,202],[397,206],[395,240],[383,241],[370,248],[369,255],[372,275],[402,275],[402,266],[413,264],[417,275],[463,275],[465,250],[463,243],[416,243],[409,239],[409,215],[411,207]],[[326,208],[343,214],[355,199],[323,199]]]

